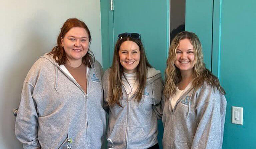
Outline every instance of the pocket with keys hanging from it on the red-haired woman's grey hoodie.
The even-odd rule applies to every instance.
[[[72,149],[88,149],[86,128],[68,132],[68,145]],[[66,143],[67,144],[67,143]]]

